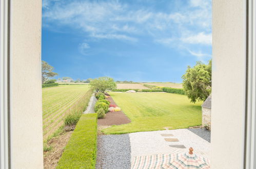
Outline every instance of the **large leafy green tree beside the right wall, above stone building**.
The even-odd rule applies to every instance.
[[[211,60],[208,65],[198,61],[193,68],[188,66],[182,78],[183,89],[190,101],[205,101],[211,93]]]

